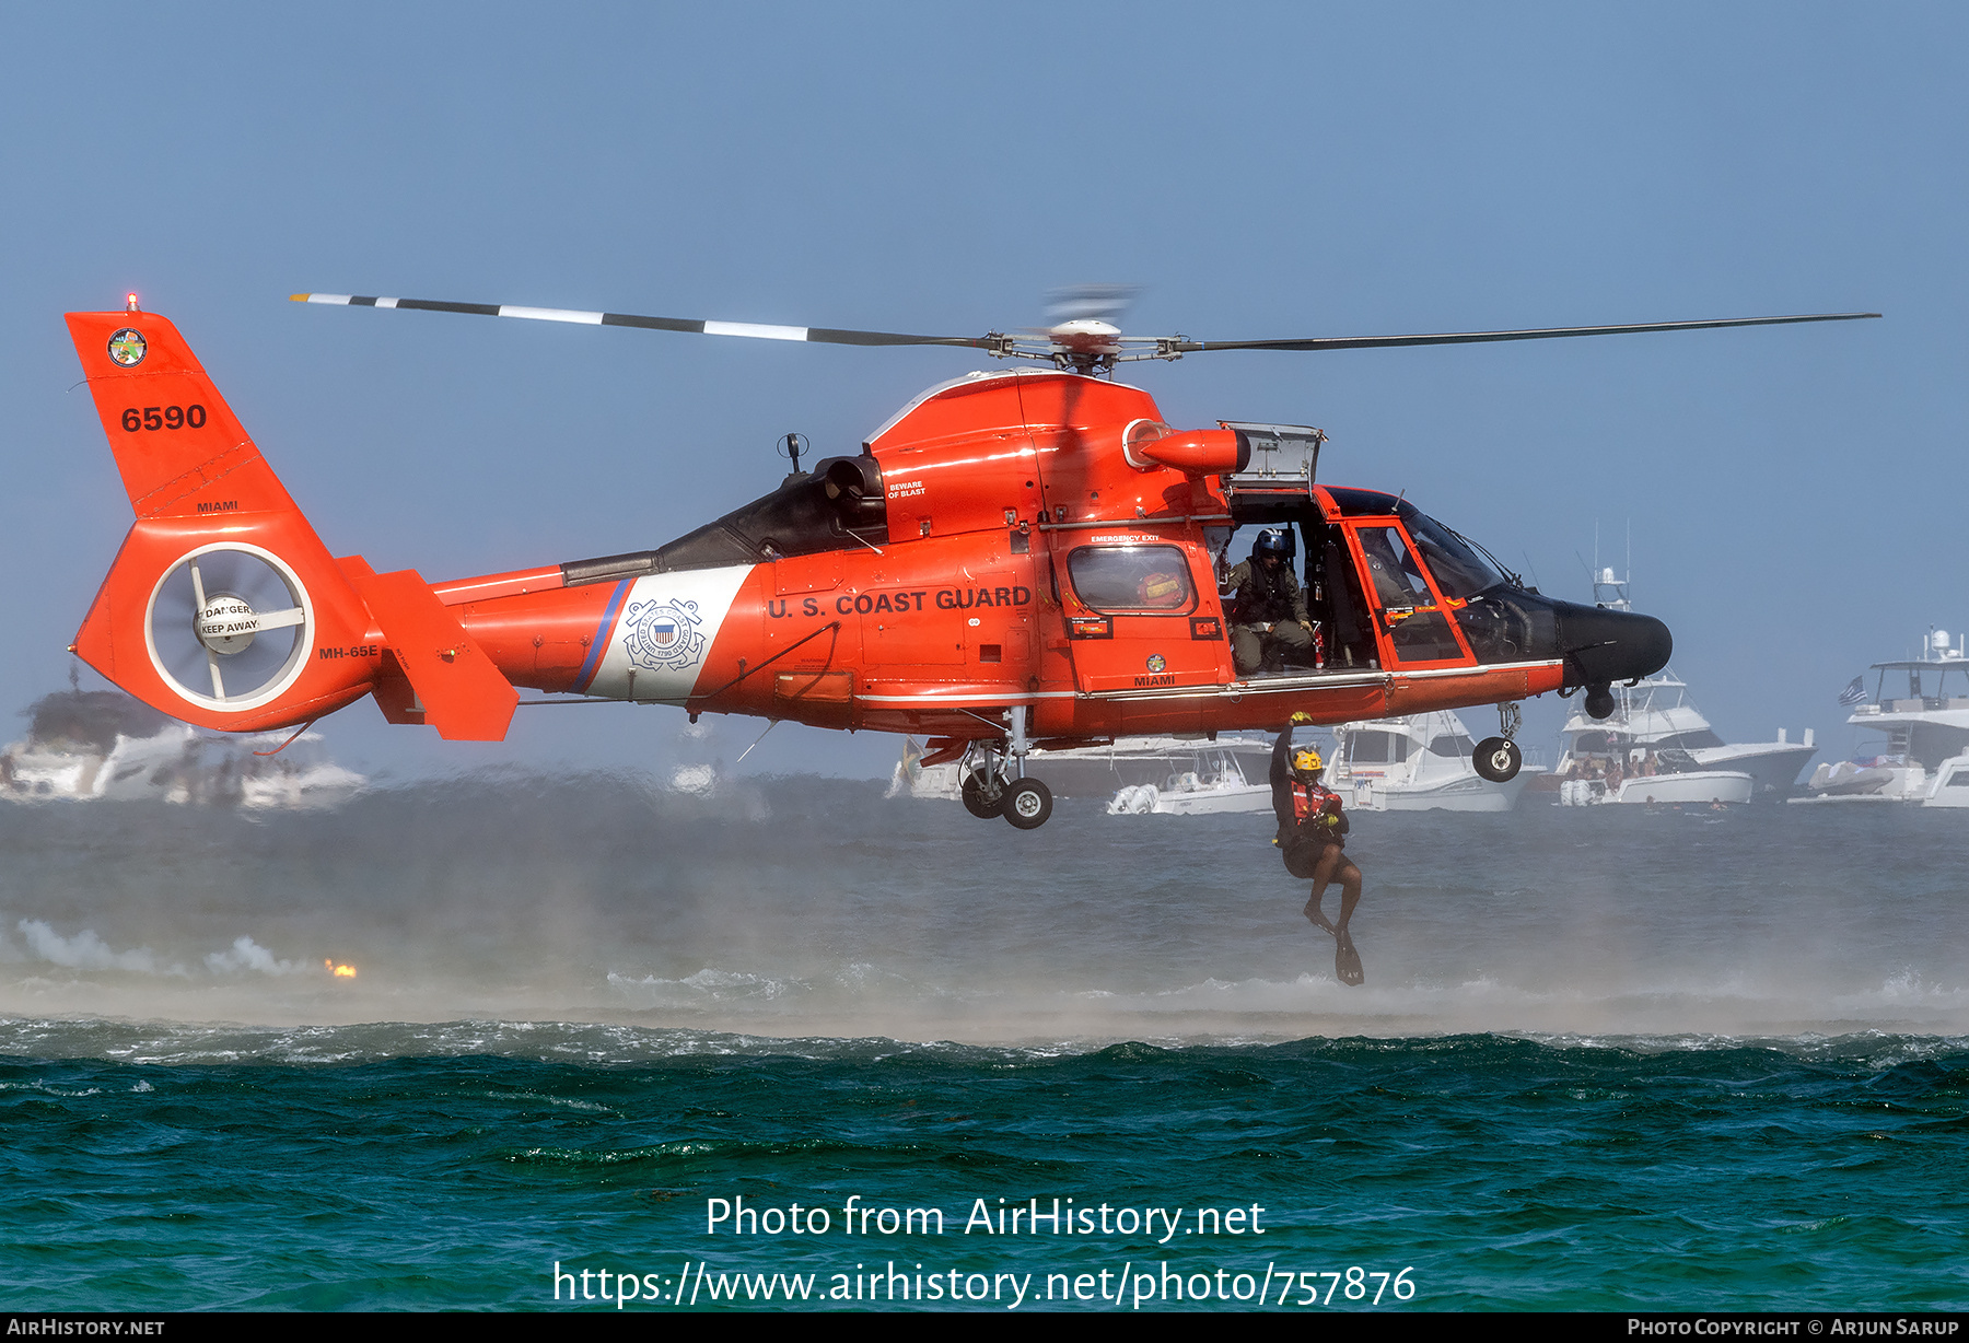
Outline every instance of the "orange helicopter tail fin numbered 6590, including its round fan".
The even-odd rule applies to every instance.
[[[305,723],[368,693],[382,662],[368,607],[177,327],[138,311],[67,321],[136,510],[75,654],[211,729]]]

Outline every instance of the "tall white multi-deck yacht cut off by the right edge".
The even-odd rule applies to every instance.
[[[1959,636],[1957,636],[1959,638]],[[1876,662],[1873,699],[1865,677],[1853,677],[1839,699],[1853,707],[1847,723],[1886,740],[1871,754],[1821,764],[1792,801],[1912,801],[1924,807],[1969,807],[1969,658],[1949,632],[1930,628],[1922,656]],[[1906,673],[1906,691],[1888,673]],[[1949,693],[1951,675],[1963,693]]]

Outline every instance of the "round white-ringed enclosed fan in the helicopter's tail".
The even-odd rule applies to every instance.
[[[221,713],[278,697],[301,672],[313,612],[272,551],[201,545],[158,581],[144,624],[152,666],[187,701]]]

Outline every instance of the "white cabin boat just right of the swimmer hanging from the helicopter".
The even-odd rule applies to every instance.
[[[1357,811],[1510,811],[1544,774],[1526,764],[1510,782],[1485,780],[1469,731],[1447,711],[1345,723],[1333,736],[1321,782]]]

